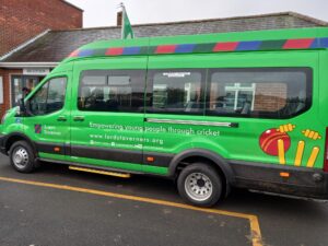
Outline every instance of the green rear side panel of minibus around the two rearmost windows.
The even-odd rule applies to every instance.
[[[145,122],[145,128],[162,127],[162,138],[165,144],[154,145],[144,144],[145,151],[161,151],[167,153],[179,153],[189,148],[206,148],[216,152],[227,160],[243,160],[247,162],[278,164],[278,157],[266,154],[259,147],[259,138],[262,132],[279,128],[280,126],[291,124],[295,126],[295,130],[288,132],[291,139],[291,147],[285,153],[285,164],[295,165],[295,155],[297,143],[305,141],[302,131],[314,129],[325,134],[325,126],[321,122],[313,121],[318,114],[318,52],[317,51],[280,51],[280,52],[258,52],[258,54],[226,54],[226,55],[186,55],[186,56],[159,56],[150,57],[149,71],[165,69],[178,69],[178,71],[188,71],[196,68],[309,68],[313,71],[313,102],[312,107],[289,119],[262,119],[262,118],[238,118],[238,117],[214,117],[198,115],[169,115],[169,114],[145,114],[147,119],[168,119],[168,120],[194,120],[194,121],[213,121],[213,122],[235,122],[236,128],[227,127],[207,127],[179,124],[155,124]],[[150,78],[149,78],[150,79]],[[209,78],[207,78],[209,80]],[[311,126],[308,125],[311,122]],[[173,128],[183,129],[181,133],[176,133]],[[164,131],[163,129],[166,129]],[[191,133],[190,133],[191,132]],[[198,134],[197,132],[203,132]],[[214,133],[213,133],[214,132]],[[207,136],[208,133],[208,136]],[[215,134],[215,136],[213,136]],[[157,132],[148,132],[147,136],[155,137]],[[303,154],[303,163],[306,162],[312,154],[314,148],[320,149],[317,160],[313,167],[323,168],[323,152],[325,149],[324,138],[316,141],[306,141]],[[247,148],[246,148],[247,147]],[[160,148],[160,149],[159,149]]]

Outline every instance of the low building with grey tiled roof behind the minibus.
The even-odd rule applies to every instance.
[[[306,15],[283,12],[227,19],[141,24],[133,25],[133,32],[137,37],[149,37],[327,25],[324,21]],[[0,96],[0,115],[7,108],[16,105],[22,86],[35,85],[71,51],[91,42],[114,38],[120,38],[119,22],[116,26],[109,27],[51,30],[33,37],[13,51],[0,57],[0,81],[1,78],[3,81],[0,95],[1,91],[4,95],[3,102],[1,102]]]

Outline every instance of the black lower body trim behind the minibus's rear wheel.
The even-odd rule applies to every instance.
[[[317,168],[281,166],[239,161],[230,162],[235,187],[290,195],[303,198],[328,199],[328,173]],[[289,178],[280,176],[288,172]]]

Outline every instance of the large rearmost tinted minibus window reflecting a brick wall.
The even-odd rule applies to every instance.
[[[312,102],[311,69],[211,70],[207,114],[289,118]]]

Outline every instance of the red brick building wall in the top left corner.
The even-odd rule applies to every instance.
[[[58,0],[0,0],[0,56],[46,30],[82,27],[83,11]]]

